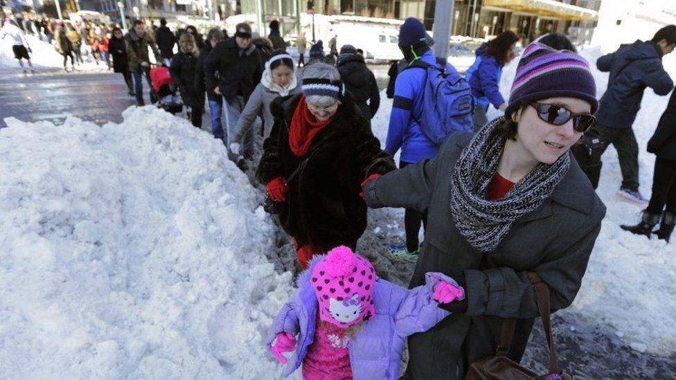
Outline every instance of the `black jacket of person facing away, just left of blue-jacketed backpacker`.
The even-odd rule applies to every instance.
[[[375,75],[366,67],[364,57],[359,54],[349,55],[338,62],[338,71],[346,89],[355,97],[362,116],[371,120],[380,107],[380,91]]]

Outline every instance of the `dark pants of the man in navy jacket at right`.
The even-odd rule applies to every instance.
[[[639,190],[639,144],[636,142],[634,130],[631,128],[610,128],[603,125],[595,125],[594,130],[601,138],[601,147],[592,154],[596,154],[598,160],[612,144],[617,150],[622,171],[622,187],[630,190]]]

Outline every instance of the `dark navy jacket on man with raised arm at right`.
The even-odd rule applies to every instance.
[[[666,95],[674,82],[662,67],[662,52],[652,42],[621,46],[614,53],[596,60],[601,71],[610,71],[608,88],[596,113],[598,124],[611,128],[630,128],[641,108],[643,90],[650,87]]]

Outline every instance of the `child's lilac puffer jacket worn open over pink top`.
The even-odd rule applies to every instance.
[[[298,336],[295,355],[287,363],[286,376],[301,366],[314,340],[318,302],[310,286],[310,273],[324,257],[326,255],[314,257],[308,270],[301,273],[298,291],[279,311],[268,332],[268,347],[280,332]],[[375,316],[366,320],[362,329],[348,343],[353,379],[397,379],[404,339],[416,332],[427,331],[450,314],[432,299],[434,286],[438,283],[436,276],[456,284],[452,278],[441,273],[427,273],[425,286],[413,289],[380,278],[375,281]]]

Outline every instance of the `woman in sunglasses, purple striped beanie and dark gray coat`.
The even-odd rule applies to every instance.
[[[573,302],[605,206],[569,149],[597,107],[587,62],[533,43],[504,117],[364,186],[368,206],[429,212],[410,287],[436,271],[467,294],[442,306],[450,317],[409,338],[404,379],[462,379],[495,355],[504,318],[518,318],[508,357],[519,361],[539,315],[528,272],[549,285],[551,309]]]

